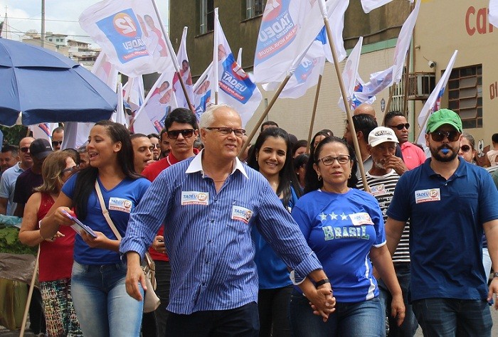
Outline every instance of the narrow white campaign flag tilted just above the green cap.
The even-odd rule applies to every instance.
[[[445,93],[445,88],[448,80],[450,79],[451,71],[453,70],[453,65],[455,65],[455,60],[457,58],[458,50],[455,50],[452,57],[450,58],[450,62],[446,66],[446,70],[441,76],[438,84],[435,86],[433,92],[430,93],[429,98],[425,101],[425,105],[423,105],[422,110],[420,110],[420,114],[418,115],[418,125],[420,126],[420,134],[418,135],[417,143],[425,145],[425,128],[427,127],[427,116],[433,114],[433,112],[438,111],[441,106],[441,97],[443,97]]]

